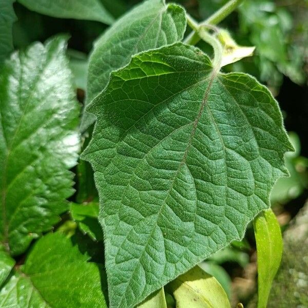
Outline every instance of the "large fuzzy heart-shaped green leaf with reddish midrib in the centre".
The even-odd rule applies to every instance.
[[[132,307],[243,237],[292,149],[254,78],[215,75],[198,48],[133,56],[88,111],[110,306]],[[137,283],[138,282],[138,283]]]

